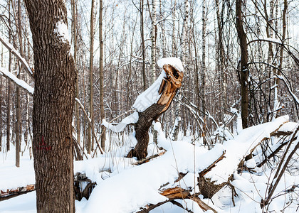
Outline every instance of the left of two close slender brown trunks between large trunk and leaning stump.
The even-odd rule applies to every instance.
[[[91,131],[93,131],[93,43],[94,43],[94,19],[95,19],[95,0],[91,1],[91,12],[90,12],[90,63],[89,63],[89,116],[91,119],[91,126],[88,128],[88,142],[87,151],[93,150],[93,136]]]

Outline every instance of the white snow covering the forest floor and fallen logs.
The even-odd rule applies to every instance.
[[[269,182],[275,173],[279,158],[272,161],[272,165],[256,167],[258,158],[252,158],[248,167],[255,172],[237,173],[236,168],[239,160],[246,156],[259,141],[269,137],[270,133],[278,129],[280,125],[288,121],[288,117],[280,117],[268,124],[253,126],[241,131],[234,139],[216,144],[208,150],[203,146],[190,143],[192,136],[182,138],[181,141],[171,141],[164,137],[160,124],[154,125],[158,130],[158,143],[167,149],[164,155],[142,165],[134,165],[135,159],[124,158],[130,147],[134,145],[132,136],[125,136],[125,141],[117,143],[117,135],[110,137],[110,151],[98,158],[75,161],[74,173],[85,173],[90,180],[96,181],[96,185],[89,200],[75,201],[76,212],[135,212],[147,204],[156,204],[167,200],[160,195],[163,189],[182,187],[191,193],[199,192],[196,180],[201,170],[211,165],[224,151],[226,158],[219,161],[217,166],[206,174],[205,178],[211,178],[218,182],[224,182],[229,175],[234,175],[231,186],[234,186],[237,196],[232,200],[231,186],[223,187],[211,199],[199,198],[206,202],[217,212],[262,212],[260,202],[265,199],[268,192]],[[284,131],[294,130],[296,123],[286,123],[280,129]],[[109,137],[107,137],[109,138]],[[275,146],[277,139],[271,138],[271,146]],[[294,141],[294,144],[298,143]],[[107,143],[109,144],[109,143]],[[108,150],[108,148],[107,148]],[[284,150],[284,149],[283,149]],[[159,153],[153,143],[149,146],[149,155]],[[259,150],[256,149],[256,156]],[[273,200],[264,212],[296,212],[299,207],[298,186],[299,174],[298,155],[292,161],[293,170],[287,170],[280,180],[273,195]],[[28,150],[21,157],[21,167],[14,166],[14,151],[0,153],[0,190],[26,186],[34,183],[33,160],[29,159]],[[179,182],[175,182],[178,173],[187,173]],[[162,187],[163,186],[163,187]],[[196,202],[176,200],[182,207],[192,212],[204,212]],[[0,202],[0,212],[36,212],[36,193],[29,192],[26,195],[11,198]],[[158,212],[187,212],[171,202],[162,204],[153,209],[152,213]],[[211,212],[211,211],[207,211]]]

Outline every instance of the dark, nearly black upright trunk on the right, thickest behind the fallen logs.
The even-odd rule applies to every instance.
[[[236,30],[238,33],[238,42],[241,48],[241,61],[238,68],[241,84],[241,119],[242,127],[248,127],[248,52],[247,38],[243,28],[242,21],[242,0],[236,0]]]

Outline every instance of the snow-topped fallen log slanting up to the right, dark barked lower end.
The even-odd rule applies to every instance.
[[[234,140],[225,141],[223,144],[226,152],[225,158],[219,161],[214,168],[211,168],[209,173],[199,177],[201,194],[211,198],[229,180],[232,180],[234,173],[238,171],[241,165],[247,164],[248,167],[254,168],[256,162],[254,158],[249,160],[248,156],[286,122],[288,122],[288,116],[281,116],[270,123],[244,129]],[[246,162],[247,159],[248,162]]]

